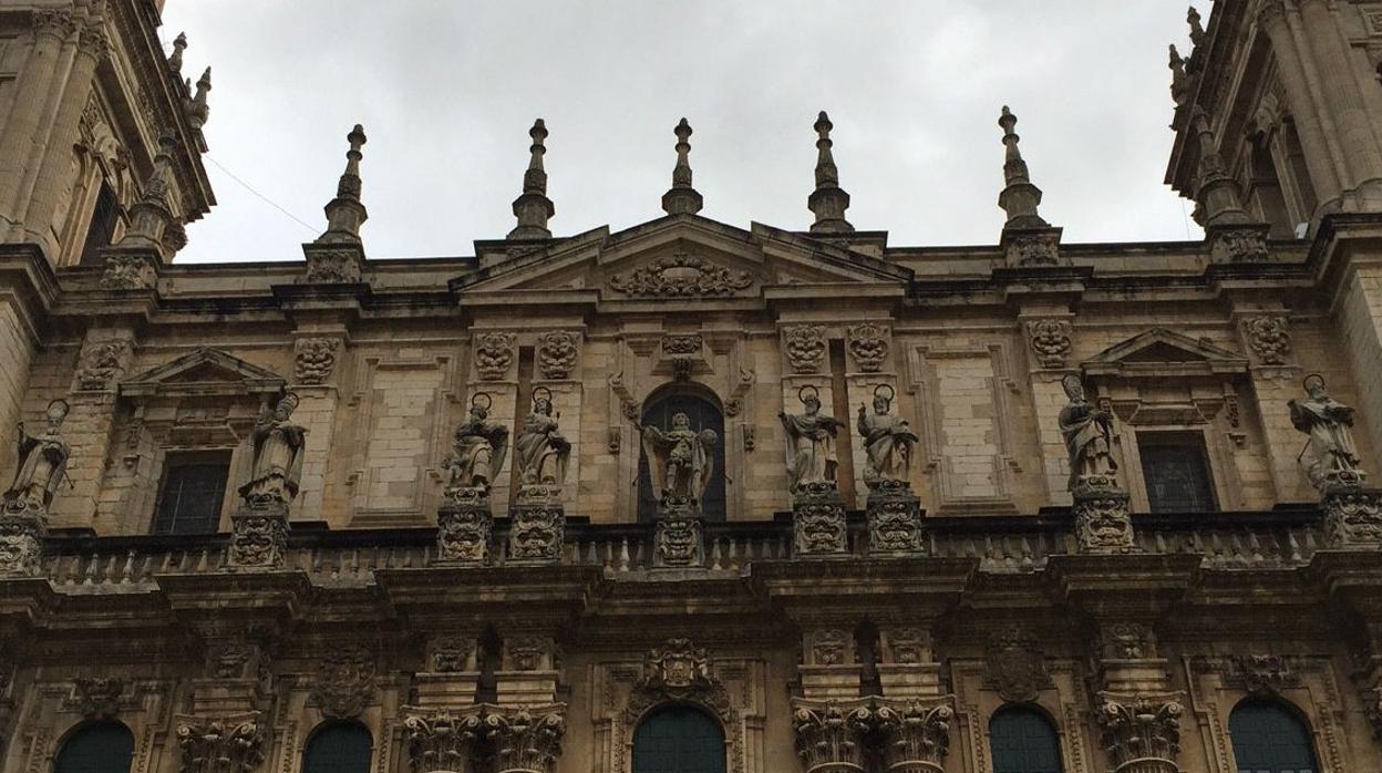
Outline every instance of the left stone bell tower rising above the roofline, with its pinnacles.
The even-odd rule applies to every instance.
[[[210,68],[182,76],[156,0],[0,0],[0,245],[37,245],[55,267],[117,242],[170,151],[159,256],[216,203],[202,166]],[[160,144],[160,138],[163,142]]]

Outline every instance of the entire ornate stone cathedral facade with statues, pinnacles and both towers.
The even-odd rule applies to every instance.
[[[1002,108],[990,246],[855,230],[825,113],[806,231],[683,119],[557,236],[539,120],[473,256],[368,256],[357,126],[214,266],[160,11],[0,0],[0,769],[1382,770],[1382,4],[1191,10],[1202,241],[1063,242]]]

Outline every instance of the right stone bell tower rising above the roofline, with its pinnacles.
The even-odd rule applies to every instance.
[[[1313,234],[1335,212],[1382,212],[1382,4],[1215,0],[1208,26],[1195,8],[1187,22],[1190,55],[1171,47],[1169,185],[1202,198],[1202,111],[1273,238]]]

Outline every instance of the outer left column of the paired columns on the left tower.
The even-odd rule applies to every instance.
[[[21,188],[32,163],[43,105],[54,90],[53,71],[62,40],[73,30],[70,8],[33,11],[33,47],[19,71],[10,120],[0,131],[0,227],[23,224]]]

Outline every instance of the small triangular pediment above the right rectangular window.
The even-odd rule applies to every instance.
[[[1204,339],[1155,328],[1103,350],[1082,369],[1090,376],[1208,376],[1247,372],[1248,358]]]

